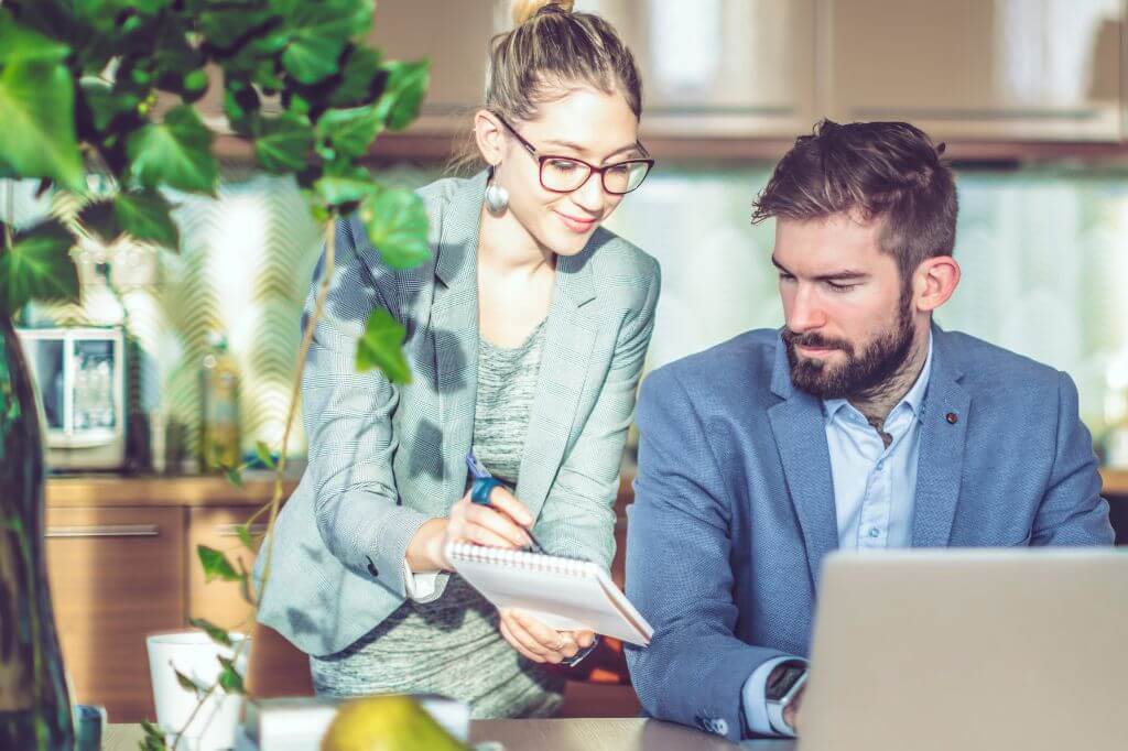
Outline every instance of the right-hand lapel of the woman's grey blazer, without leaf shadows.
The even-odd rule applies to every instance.
[[[517,497],[536,518],[556,479],[572,433],[599,332],[599,306],[591,266],[596,248],[557,256],[556,289],[545,321],[537,391],[521,457]]]

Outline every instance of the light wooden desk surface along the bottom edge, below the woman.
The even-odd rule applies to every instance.
[[[103,751],[136,751],[136,725],[111,725]],[[499,741],[505,751],[793,751],[794,741],[746,741],[735,745],[680,725],[637,717],[624,719],[476,719],[470,741]],[[314,751],[312,749],[310,751]]]

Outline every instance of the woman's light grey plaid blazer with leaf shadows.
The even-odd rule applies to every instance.
[[[258,608],[259,621],[309,654],[345,648],[404,602],[408,542],[466,487],[485,173],[420,193],[432,260],[418,268],[390,268],[356,219],[336,230],[337,265],[302,376],[309,463],[272,532]],[[558,258],[517,496],[559,555],[610,566],[619,461],[660,283],[653,258],[602,228]],[[377,306],[407,328],[407,386],[356,372],[356,341]]]

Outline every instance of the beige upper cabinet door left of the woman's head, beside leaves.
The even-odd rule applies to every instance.
[[[482,103],[493,0],[380,0],[369,42],[387,60],[431,61],[431,85],[413,133],[469,132]]]

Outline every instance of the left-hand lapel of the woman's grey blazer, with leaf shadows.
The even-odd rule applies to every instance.
[[[442,431],[443,483],[461,495],[466,454],[474,440],[478,385],[478,230],[485,173],[467,180],[442,214],[435,258],[431,341]]]

